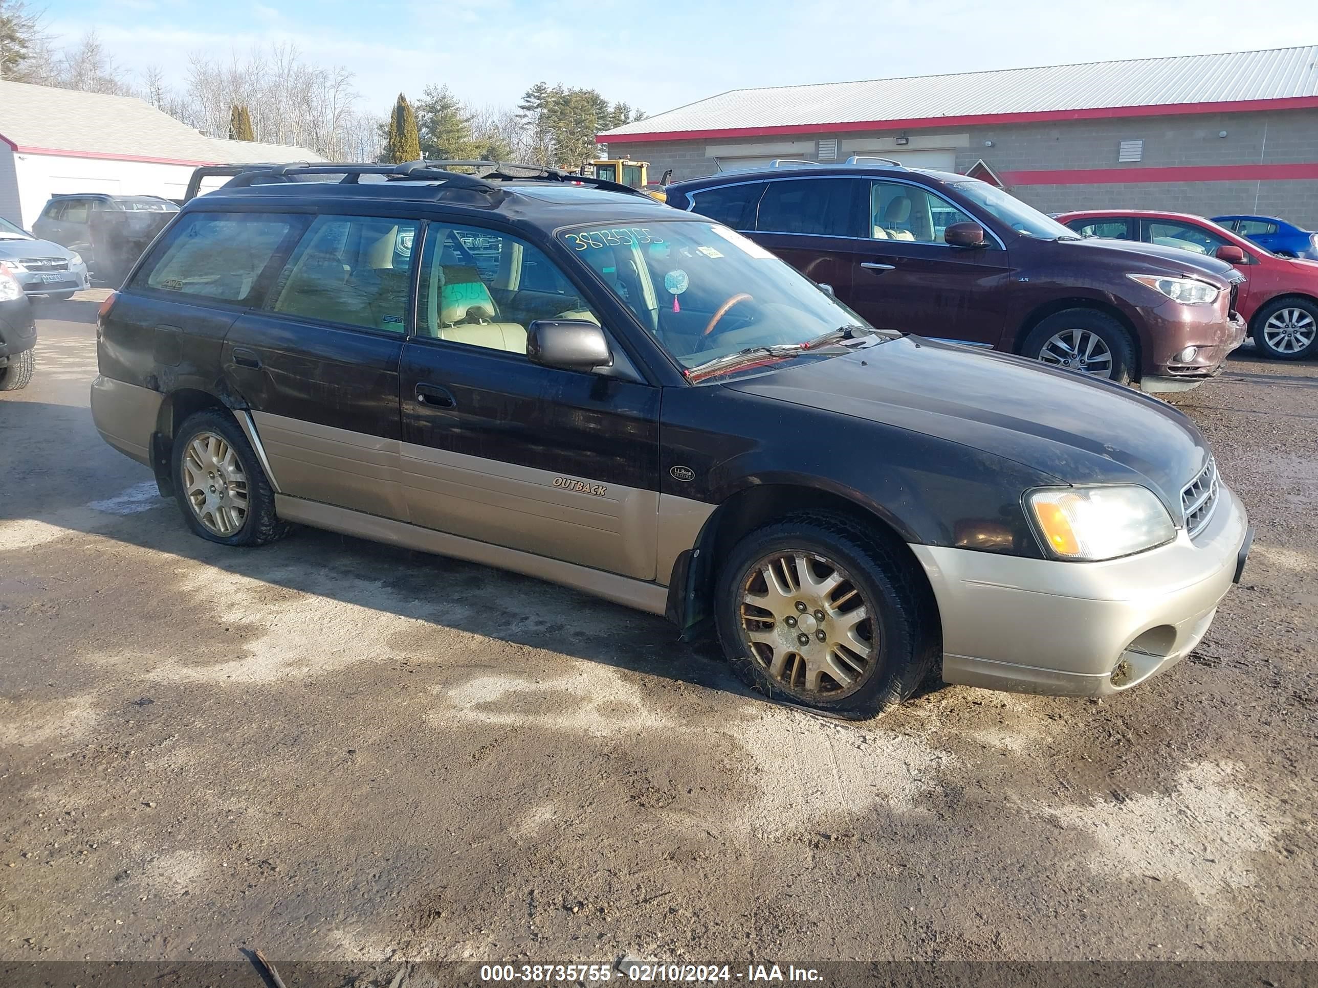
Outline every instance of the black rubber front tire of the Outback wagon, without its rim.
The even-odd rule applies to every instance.
[[[753,568],[768,555],[788,551],[817,553],[841,565],[873,602],[879,640],[873,671],[854,692],[837,700],[828,694],[807,700],[788,692],[746,653],[742,642],[742,593]],[[873,530],[826,511],[791,515],[742,539],[720,569],[714,606],[724,655],[746,685],[771,700],[851,721],[878,717],[915,693],[941,652],[936,611],[913,564]]]

